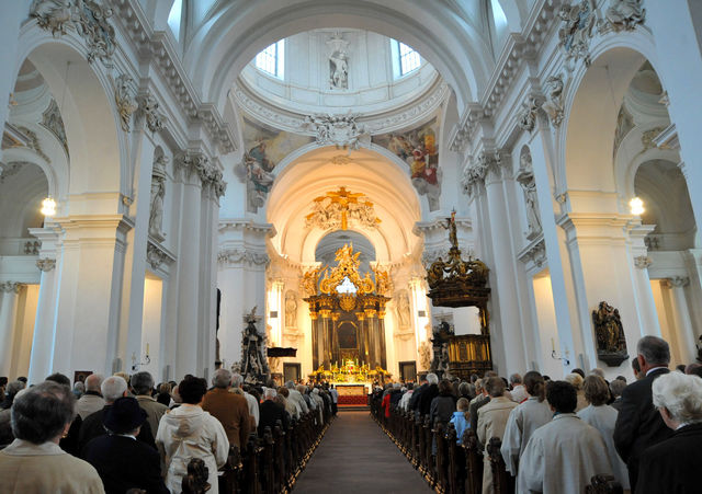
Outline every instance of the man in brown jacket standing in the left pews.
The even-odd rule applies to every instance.
[[[202,402],[202,410],[210,412],[224,426],[229,446],[238,448],[246,445],[249,437],[249,407],[246,398],[240,394],[230,393],[229,384],[231,372],[227,369],[217,369],[212,378],[214,388],[205,394]]]

